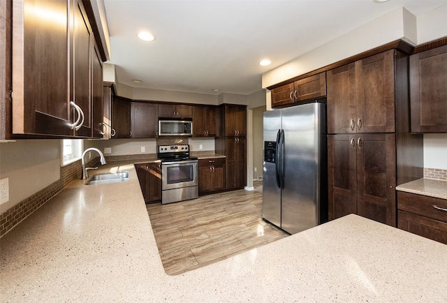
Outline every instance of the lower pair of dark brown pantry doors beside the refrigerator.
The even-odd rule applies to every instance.
[[[328,135],[330,220],[359,214],[396,226],[395,134]]]

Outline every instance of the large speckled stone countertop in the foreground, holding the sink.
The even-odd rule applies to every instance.
[[[168,276],[133,165],[105,170],[131,179],[75,180],[0,239],[0,302],[447,301],[447,245],[353,214]]]

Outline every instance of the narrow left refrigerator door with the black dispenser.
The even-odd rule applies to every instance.
[[[281,128],[281,110],[264,112],[263,141],[277,140]],[[263,158],[265,158],[265,143]],[[277,186],[276,163],[263,161],[263,218],[275,226],[281,226],[281,190]]]

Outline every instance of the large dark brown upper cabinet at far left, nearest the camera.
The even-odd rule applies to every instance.
[[[42,11],[58,21],[36,13]],[[92,100],[102,96],[102,84],[94,88],[92,77],[98,68],[81,0],[15,1],[13,135],[96,137]]]

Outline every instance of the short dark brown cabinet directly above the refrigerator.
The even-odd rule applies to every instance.
[[[326,73],[318,73],[272,89],[272,108],[326,95]]]

